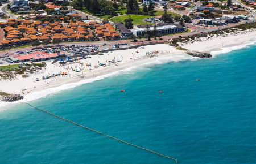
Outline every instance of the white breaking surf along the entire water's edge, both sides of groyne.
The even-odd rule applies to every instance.
[[[255,45],[255,44],[256,44],[256,40],[248,41],[243,45],[224,47],[224,48],[222,48],[222,50],[212,51],[210,54],[212,54],[214,57],[214,55],[229,53],[230,51],[246,48],[249,45]],[[185,61],[188,59],[189,60],[198,60],[201,58],[191,57],[187,54],[163,55],[162,57],[159,57],[159,58],[148,59],[146,61],[146,63],[138,64],[137,66],[130,66],[128,68],[124,68],[123,70],[115,71],[115,72],[112,72],[112,73],[109,73],[106,75],[100,75],[100,76],[97,76],[97,77],[94,77],[91,79],[81,80],[76,83],[68,83],[68,84],[61,85],[59,87],[48,88],[46,90],[33,92],[33,93],[30,93],[30,94],[27,94],[26,96],[24,96],[23,100],[19,100],[19,101],[15,101],[15,102],[0,102],[0,111],[6,110],[7,107],[10,105],[16,105],[18,103],[29,102],[29,101],[33,101],[33,100],[36,100],[39,98],[44,98],[44,97],[48,96],[49,94],[58,93],[63,90],[72,89],[72,88],[78,87],[78,86],[86,84],[86,83],[92,83],[93,81],[96,81],[96,80],[102,80],[102,79],[105,79],[106,77],[118,75],[120,72],[130,72],[130,71],[137,70],[137,68],[148,68],[149,66],[152,66],[155,64],[164,64],[164,63],[168,63],[168,62],[179,62],[179,61]]]

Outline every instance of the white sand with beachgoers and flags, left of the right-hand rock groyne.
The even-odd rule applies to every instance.
[[[146,53],[149,51],[158,50],[159,53],[155,54],[157,56],[153,58],[146,57]],[[139,53],[137,53],[137,51]],[[96,76],[109,74],[115,71],[123,70],[125,68],[138,66],[147,62],[155,62],[156,58],[168,57],[172,61],[178,61],[181,59],[191,58],[189,55],[185,54],[181,50],[176,50],[172,46],[166,44],[144,46],[144,49],[130,49],[130,50],[119,50],[105,53],[104,55],[92,55],[92,58],[82,59],[75,61],[70,64],[65,64],[61,66],[59,62],[51,64],[51,62],[46,61],[47,66],[42,70],[39,70],[35,74],[30,74],[28,77],[19,77],[16,80],[1,80],[0,90],[7,93],[18,93],[26,95],[39,90],[44,90],[47,88],[57,87],[66,83],[77,82],[79,80],[90,79]],[[118,66],[113,64],[107,64],[107,66],[101,66],[99,68],[94,68],[94,65],[100,63],[107,63],[106,61],[112,61],[113,59],[121,59],[122,62],[117,62]],[[83,66],[80,63],[83,63]],[[86,63],[91,63],[92,66],[86,67]],[[72,71],[72,69],[82,70],[81,72]],[[59,72],[68,72],[65,76],[56,76],[50,79],[42,80],[42,76],[57,74]],[[39,81],[36,81],[39,78]],[[26,91],[23,91],[26,89]],[[24,94],[23,94],[24,93]]]

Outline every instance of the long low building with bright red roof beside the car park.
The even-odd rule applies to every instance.
[[[56,59],[57,57],[64,57],[65,53],[58,52],[53,54],[48,54],[46,52],[40,51],[32,54],[25,54],[25,55],[16,55],[14,58],[19,59],[19,62],[40,62],[40,61],[46,61],[49,59]]]

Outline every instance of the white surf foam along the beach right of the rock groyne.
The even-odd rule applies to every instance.
[[[256,44],[256,39],[254,41],[246,41],[245,44],[242,44],[242,45],[223,47],[221,48],[221,50],[210,52],[210,54],[212,54],[214,57],[214,55],[230,53],[231,51],[240,50],[242,48],[246,48],[249,45],[255,45],[255,44]]]

